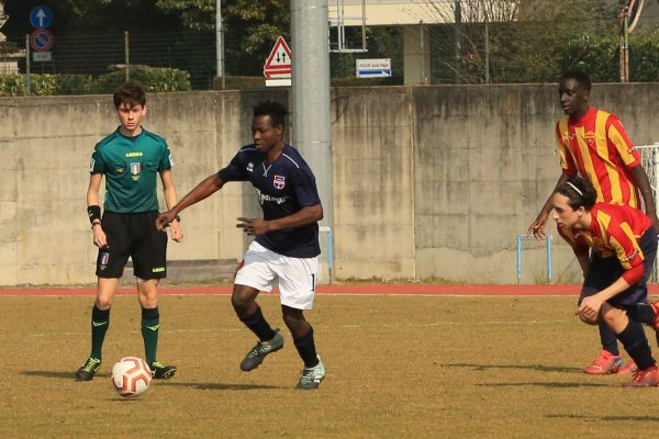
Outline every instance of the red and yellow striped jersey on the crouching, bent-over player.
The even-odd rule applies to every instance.
[[[592,247],[602,258],[616,256],[630,285],[644,274],[640,237],[652,227],[650,218],[639,210],[624,204],[595,203],[591,210],[592,223],[589,230],[559,227],[558,233],[574,249]]]

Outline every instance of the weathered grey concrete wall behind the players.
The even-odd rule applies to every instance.
[[[596,85],[591,101],[648,144],[658,91]],[[148,97],[144,126],[172,148],[179,195],[249,142],[265,98],[288,94]],[[515,236],[560,172],[557,101],[555,85],[333,89],[336,277],[515,282]],[[2,98],[0,119],[0,285],[94,281],[85,193],[92,147],[116,125],[110,97]],[[169,259],[239,258],[248,239],[235,218],[258,213],[249,184],[226,185],[183,212],[186,240]],[[525,247],[523,281],[541,281],[545,247]],[[557,243],[554,256],[555,281],[578,280],[569,248]]]

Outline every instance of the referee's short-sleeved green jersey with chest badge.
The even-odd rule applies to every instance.
[[[172,164],[163,137],[144,128],[125,137],[118,128],[96,145],[89,172],[105,175],[105,211],[141,213],[158,210],[156,177]]]

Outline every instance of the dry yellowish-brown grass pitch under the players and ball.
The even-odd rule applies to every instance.
[[[244,373],[255,338],[228,296],[161,295],[158,357],[179,372],[134,401],[109,374],[143,357],[135,296],[115,300],[97,378],[74,380],[92,302],[0,297],[0,438],[640,437],[659,425],[659,389],[581,372],[599,341],[576,297],[320,295],[308,318],[327,375],[304,392],[277,296],[259,303],[284,349]]]

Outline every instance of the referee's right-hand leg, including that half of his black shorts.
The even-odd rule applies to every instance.
[[[167,380],[176,374],[176,365],[157,360],[160,329],[158,283],[167,277],[167,233],[156,228],[157,212],[133,215],[134,233],[143,238],[133,248],[133,267],[137,278],[137,299],[142,308],[141,331],[144,354],[153,375]]]

